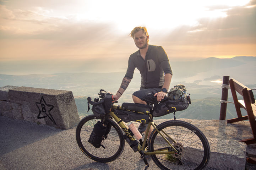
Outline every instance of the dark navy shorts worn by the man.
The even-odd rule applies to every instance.
[[[155,103],[157,102],[157,97],[154,95],[158,92],[160,92],[162,89],[157,87],[157,88],[148,88],[148,89],[143,89],[143,90],[138,90],[134,92],[134,96],[137,98],[141,99],[142,101],[146,101],[147,104],[150,103]]]

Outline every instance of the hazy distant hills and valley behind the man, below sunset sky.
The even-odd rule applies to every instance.
[[[254,85],[256,84],[256,57],[237,56],[230,59],[211,57],[177,62],[170,60],[170,65],[173,70],[170,88],[176,84],[184,84],[193,99],[220,98],[223,76],[230,76],[250,88],[256,88]],[[75,96],[93,96],[100,89],[115,93],[120,87],[125,71],[114,70],[112,65],[107,63],[106,66],[111,68],[112,72],[98,73],[81,70],[80,73],[72,73],[65,70],[65,73],[56,74],[0,74],[0,87],[12,85],[70,90]],[[136,69],[134,78],[122,96],[122,100],[130,102],[132,93],[140,88],[140,83],[141,76]]]

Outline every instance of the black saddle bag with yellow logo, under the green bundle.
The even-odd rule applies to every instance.
[[[189,102],[184,94],[178,100],[164,98],[164,100],[154,104],[152,114],[154,117],[159,117],[172,112],[185,110],[187,107],[189,107]]]

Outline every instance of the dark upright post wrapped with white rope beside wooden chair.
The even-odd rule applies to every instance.
[[[223,76],[223,84],[229,85],[229,76]],[[228,101],[228,88],[222,88],[221,100]],[[227,103],[221,103],[219,119],[225,120],[226,113],[227,113]]]

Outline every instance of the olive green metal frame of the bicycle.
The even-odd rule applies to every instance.
[[[118,105],[112,105],[111,110],[115,110],[115,109],[124,110],[124,109],[121,109],[121,107],[118,106]],[[127,135],[127,137],[129,137],[130,140],[132,140],[132,141],[136,140],[134,138],[134,136],[131,135],[131,133],[128,131],[128,127],[121,121],[121,119],[118,116],[116,116],[114,114],[113,111],[110,111],[109,115],[114,118],[114,120],[118,123],[118,125],[121,127],[121,129],[124,131],[124,133]],[[149,123],[148,123],[147,129],[146,129],[145,138],[144,138],[144,140],[142,142],[142,146],[140,145],[140,143],[138,144],[138,151],[143,151],[145,153],[145,155],[174,154],[174,153],[177,153],[178,151],[173,147],[173,145],[171,145],[171,143],[164,137],[164,135],[166,135],[174,143],[176,143],[176,141],[174,141],[165,131],[163,131],[163,130],[159,131],[156,128],[157,125],[153,122],[153,116],[151,114],[149,114],[149,116],[150,116],[150,119],[149,119]],[[149,152],[148,150],[146,150],[146,141],[147,141],[146,140],[147,139],[146,136],[148,136],[148,133],[149,133],[149,130],[150,130],[151,126],[163,137],[163,139],[168,143],[168,145],[171,148],[173,148],[173,151],[168,151],[169,147],[160,148],[158,150],[154,150],[153,152]]]

